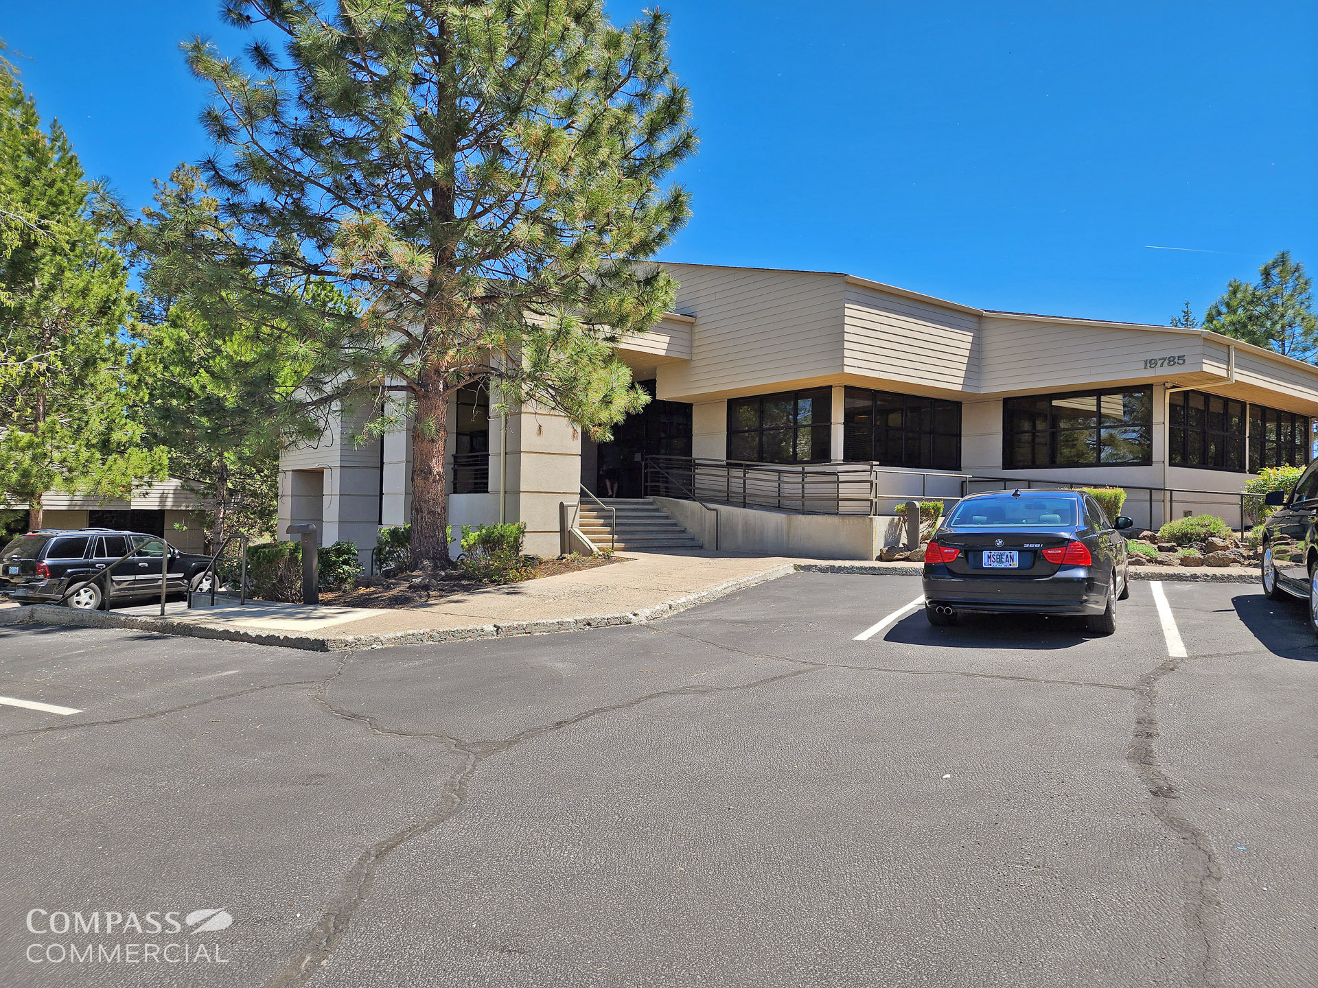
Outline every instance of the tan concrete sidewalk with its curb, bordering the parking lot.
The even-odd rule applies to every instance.
[[[793,572],[919,576],[917,563],[801,560],[704,551],[626,553],[609,566],[493,586],[435,603],[384,610],[304,607],[253,602],[188,610],[150,603],[112,611],[9,606],[0,624],[42,623],[132,627],[167,635],[252,642],[314,651],[356,651],[418,642],[456,642],[507,635],[639,624]],[[1132,568],[1135,580],[1255,582],[1247,570],[1189,566]]]

